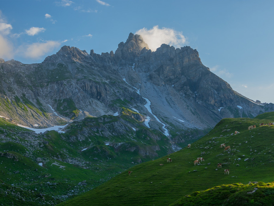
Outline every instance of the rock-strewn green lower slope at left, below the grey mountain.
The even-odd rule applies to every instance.
[[[65,201],[132,165],[169,154],[163,137],[126,114],[86,118],[65,133],[44,134],[0,118],[0,204]]]

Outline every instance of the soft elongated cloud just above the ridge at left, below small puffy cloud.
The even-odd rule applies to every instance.
[[[60,45],[61,43],[57,41],[37,42],[30,45],[22,45],[17,53],[22,53],[26,58],[38,59]]]

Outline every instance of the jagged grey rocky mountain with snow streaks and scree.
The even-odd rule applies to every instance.
[[[132,33],[115,52],[101,55],[63,46],[39,64],[0,60],[0,75],[0,115],[30,127],[113,115],[125,107],[138,111],[130,114],[137,121],[149,118],[151,129],[176,131],[167,136],[182,143],[224,117],[274,110],[232,90],[202,64],[196,49],[163,44],[152,52]]]

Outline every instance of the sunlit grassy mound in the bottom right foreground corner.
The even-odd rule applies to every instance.
[[[274,182],[242,183],[220,185],[201,192],[194,192],[176,201],[174,205],[257,205],[272,206],[274,203]]]

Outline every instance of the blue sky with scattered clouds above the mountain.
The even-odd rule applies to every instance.
[[[0,0],[0,58],[40,63],[63,45],[110,52],[130,32],[151,49],[197,49],[232,89],[274,103],[274,1]]]

